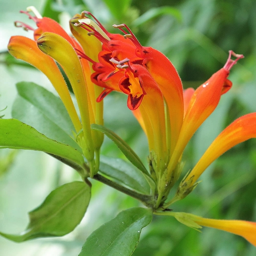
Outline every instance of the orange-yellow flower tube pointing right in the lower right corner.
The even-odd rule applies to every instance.
[[[206,227],[224,230],[244,237],[248,242],[256,246],[256,223],[250,221],[207,219],[196,216],[193,220]]]

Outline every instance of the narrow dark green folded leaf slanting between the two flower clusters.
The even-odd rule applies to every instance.
[[[138,155],[136,155],[136,153],[132,150],[132,148],[123,139],[121,139],[116,133],[99,124],[91,124],[91,128],[106,134],[106,136],[108,136],[109,139],[113,140],[113,142],[122,151],[125,157],[127,157],[127,159],[134,166],[136,166],[144,174],[150,177],[146,167],[143,165]]]

